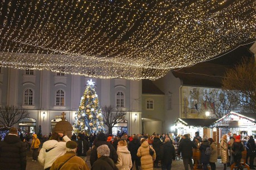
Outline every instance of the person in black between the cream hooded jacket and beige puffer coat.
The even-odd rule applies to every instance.
[[[137,135],[134,135],[134,139],[128,145],[128,150],[131,153],[132,165],[134,164],[134,161],[135,161],[136,170],[139,170],[139,166],[140,166],[140,158],[137,157],[137,151],[139,147],[140,147],[139,137]]]

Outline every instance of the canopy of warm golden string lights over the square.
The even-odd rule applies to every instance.
[[[0,63],[155,80],[256,38],[255,0],[5,0]]]

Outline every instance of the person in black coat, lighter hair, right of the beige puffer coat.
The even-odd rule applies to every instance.
[[[161,169],[170,170],[171,163],[173,163],[173,160],[176,158],[173,141],[171,141],[170,138],[165,138],[164,145],[161,147],[160,152]]]

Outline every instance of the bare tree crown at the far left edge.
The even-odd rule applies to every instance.
[[[4,106],[0,107],[0,123],[3,126],[12,127],[19,120],[28,117],[28,111],[22,107]]]

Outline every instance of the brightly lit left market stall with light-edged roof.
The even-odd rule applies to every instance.
[[[199,135],[203,137],[203,135],[207,135],[208,137],[212,137],[212,131],[209,126],[215,122],[216,119],[177,119],[174,122],[173,129],[177,131],[177,134],[187,134],[189,133],[191,138],[195,136],[195,132],[199,132]]]

